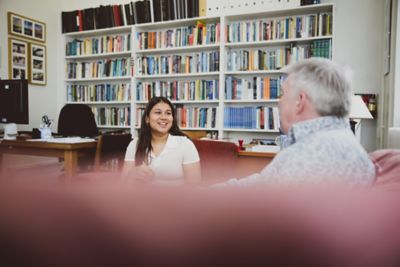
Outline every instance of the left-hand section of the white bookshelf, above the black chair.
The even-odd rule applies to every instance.
[[[66,103],[89,105],[100,130],[129,130],[132,27],[64,36]]]

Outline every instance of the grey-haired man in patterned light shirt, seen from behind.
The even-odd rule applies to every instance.
[[[288,66],[279,101],[285,144],[260,174],[220,185],[332,183],[370,185],[375,168],[350,130],[351,88],[344,71],[322,58]]]

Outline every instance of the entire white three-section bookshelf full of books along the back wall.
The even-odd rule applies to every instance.
[[[66,33],[65,44],[80,47],[65,55],[66,103],[90,105],[100,128],[136,135],[147,100],[163,95],[183,130],[274,139],[281,69],[311,56],[333,59],[333,18],[333,4],[318,4]],[[88,40],[124,36],[122,49],[87,51]],[[86,65],[92,73],[106,64],[118,71],[86,75]],[[124,93],[99,93],[118,89]]]

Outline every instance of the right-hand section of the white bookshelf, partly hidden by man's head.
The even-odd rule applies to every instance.
[[[224,138],[248,143],[279,134],[281,69],[312,56],[332,58],[333,11],[319,4],[224,17]]]

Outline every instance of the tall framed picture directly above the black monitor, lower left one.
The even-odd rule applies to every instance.
[[[10,79],[28,78],[28,43],[8,38],[8,76]]]

